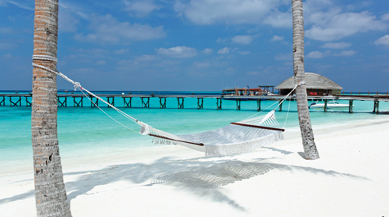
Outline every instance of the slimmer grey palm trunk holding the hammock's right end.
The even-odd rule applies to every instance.
[[[302,17],[302,0],[292,0],[293,16],[293,69],[294,83],[297,85],[305,80],[304,76],[304,17]],[[299,85],[296,88],[297,111],[302,137],[302,146],[306,159],[319,158],[316,144],[313,141],[311,119],[308,111],[307,87]]]

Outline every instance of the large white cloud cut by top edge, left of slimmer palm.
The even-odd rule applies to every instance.
[[[285,16],[277,8],[289,4],[286,0],[191,0],[176,2],[175,10],[200,25],[215,22],[280,25]]]

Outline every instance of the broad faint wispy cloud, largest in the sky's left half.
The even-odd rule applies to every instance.
[[[76,34],[75,38],[85,42],[126,43],[162,38],[166,35],[162,26],[153,28],[139,23],[120,22],[112,15],[93,16],[89,34]]]

